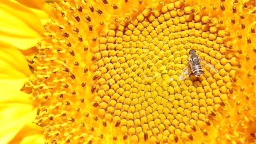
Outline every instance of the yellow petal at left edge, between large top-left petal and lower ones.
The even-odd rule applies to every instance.
[[[13,45],[0,41],[0,85],[10,84],[20,90],[29,75],[31,71],[22,53]]]

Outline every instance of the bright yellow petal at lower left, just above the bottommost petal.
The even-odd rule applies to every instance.
[[[37,109],[32,97],[8,86],[0,89],[0,141],[8,143],[27,123],[35,120]]]

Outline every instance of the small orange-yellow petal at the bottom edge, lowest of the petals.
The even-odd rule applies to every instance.
[[[9,144],[44,144],[44,129],[35,123],[28,123],[17,133]]]

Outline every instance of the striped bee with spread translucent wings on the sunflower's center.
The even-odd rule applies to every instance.
[[[195,75],[195,77],[200,77],[203,75],[203,66],[208,66],[211,69],[214,69],[215,72],[219,72],[216,67],[207,61],[200,59],[195,50],[189,51],[189,62],[187,66],[182,70],[181,75],[179,76],[180,80],[187,79],[191,74]]]

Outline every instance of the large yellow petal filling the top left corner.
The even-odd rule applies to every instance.
[[[13,0],[0,1],[0,40],[22,50],[41,39],[44,28],[32,10]]]

